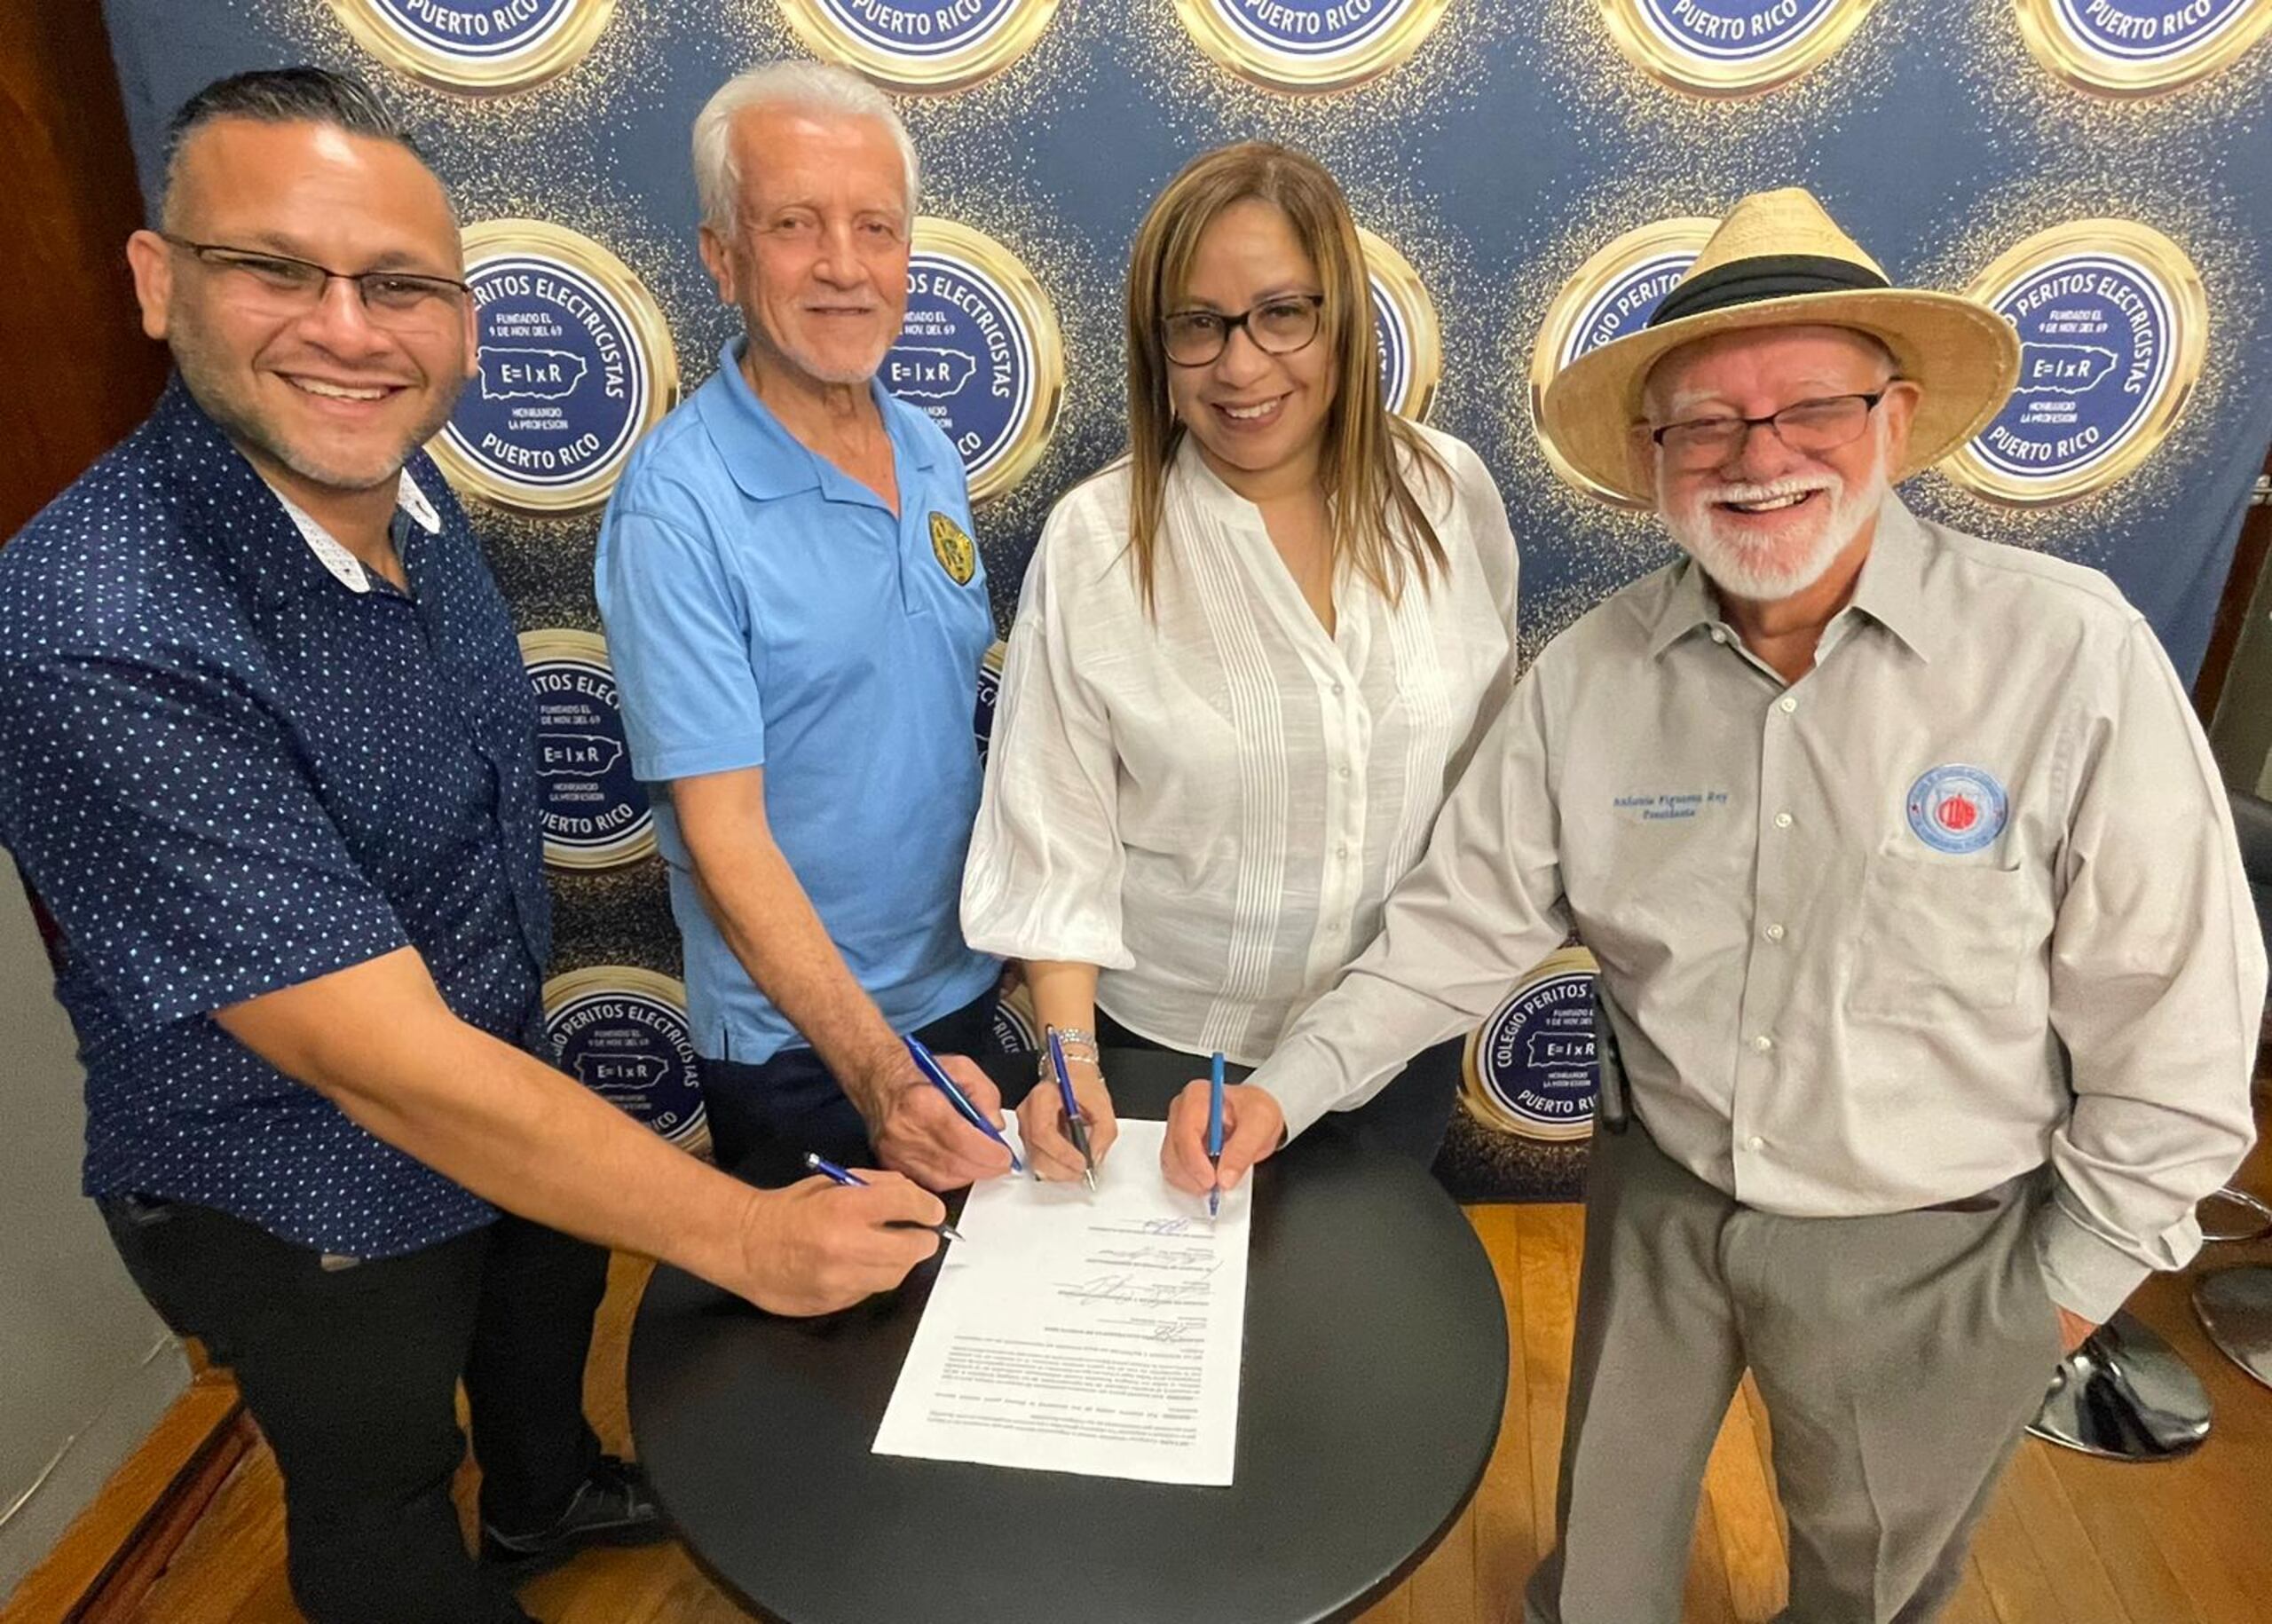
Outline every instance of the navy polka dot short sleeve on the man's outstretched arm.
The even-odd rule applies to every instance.
[[[284,722],[191,654],[0,668],[0,834],[127,1027],[407,945]]]

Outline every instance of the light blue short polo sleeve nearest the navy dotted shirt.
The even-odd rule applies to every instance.
[[[648,784],[766,765],[747,595],[682,518],[607,513],[593,563],[632,770]]]

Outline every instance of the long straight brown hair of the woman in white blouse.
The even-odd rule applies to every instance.
[[[1397,452],[1409,452],[1422,479],[1450,484],[1450,470],[1381,404],[1381,357],[1356,220],[1318,159],[1272,141],[1241,141],[1202,152],[1168,182],[1129,257],[1129,550],[1145,606],[1154,602],[1168,466],[1184,438],[1168,404],[1163,325],[1170,302],[1184,295],[1200,234],[1247,198],[1286,216],[1325,288],[1318,336],[1334,345],[1338,377],[1318,477],[1334,504],[1334,559],[1350,559],[1390,602],[1409,575],[1418,575],[1425,591],[1450,561]]]

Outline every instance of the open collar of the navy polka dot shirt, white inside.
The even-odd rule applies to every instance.
[[[316,538],[320,525],[284,500],[275,486],[207,416],[189,386],[175,375],[157,404],[173,452],[175,484],[186,497],[193,529],[223,563],[236,572],[261,604],[282,604],[314,591],[352,591],[345,570],[327,561]],[[395,484],[395,522],[407,513],[425,534],[441,531],[441,509],[427,497],[411,470]],[[307,520],[302,525],[300,520]],[[339,547],[339,543],[332,543]],[[341,552],[345,552],[341,547]],[[348,554],[352,559],[352,554]],[[361,566],[354,566],[361,570]]]

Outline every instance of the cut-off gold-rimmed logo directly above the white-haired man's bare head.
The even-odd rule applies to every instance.
[[[804,48],[918,95],[963,91],[1034,48],[1056,0],[782,0]]]

